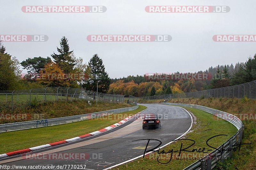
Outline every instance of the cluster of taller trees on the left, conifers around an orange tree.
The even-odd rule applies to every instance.
[[[20,65],[28,70],[27,74],[21,74]],[[97,83],[98,92],[108,92],[110,78],[103,60],[94,54],[88,64],[84,63],[69,49],[65,36],[60,39],[57,53],[53,52],[51,57],[28,57],[21,63],[6,52],[0,40],[0,90],[63,86],[96,91]]]

